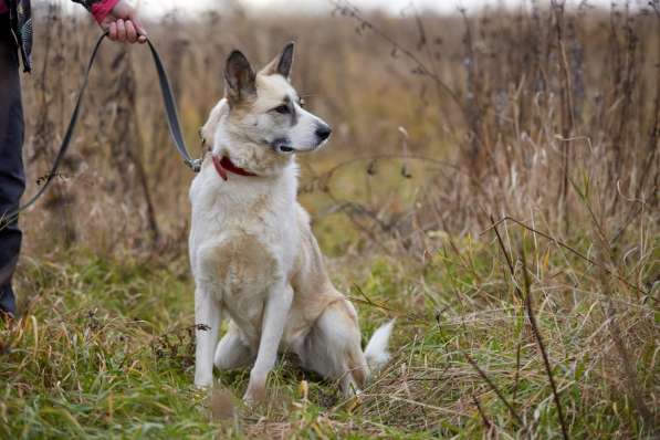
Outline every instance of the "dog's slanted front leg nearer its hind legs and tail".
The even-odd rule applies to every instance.
[[[265,381],[277,358],[277,348],[284,333],[284,324],[292,300],[293,290],[287,283],[277,283],[269,292],[261,324],[256,362],[250,371],[250,384],[245,396],[243,396],[243,400],[248,404],[265,399]]]

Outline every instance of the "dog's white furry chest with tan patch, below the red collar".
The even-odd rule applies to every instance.
[[[275,281],[286,276],[291,252],[297,249],[286,229],[291,209],[268,192],[238,185],[219,187],[214,180],[196,186],[190,231],[195,277],[212,284],[230,312],[260,314],[261,308],[254,311],[250,304],[259,303]]]

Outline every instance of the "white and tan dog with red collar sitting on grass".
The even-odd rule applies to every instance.
[[[326,144],[331,127],[291,84],[294,44],[254,73],[240,51],[224,69],[224,97],[201,128],[210,147],[190,186],[195,277],[195,385],[252,365],[243,400],[265,398],[279,352],[349,396],[389,357],[394,321],[363,352],[353,304],[332,284],[310,217],[296,200],[295,154]],[[218,343],[221,321],[229,319]]]

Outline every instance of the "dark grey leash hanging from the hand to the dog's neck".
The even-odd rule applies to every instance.
[[[96,44],[94,45],[94,50],[92,51],[92,55],[90,56],[90,62],[87,63],[87,69],[85,70],[85,73],[83,75],[83,84],[78,91],[77,98],[75,101],[75,106],[73,108],[73,114],[71,115],[71,121],[69,122],[69,126],[66,127],[66,132],[64,134],[64,137],[62,138],[62,144],[60,145],[60,149],[57,151],[57,155],[55,156],[55,160],[53,161],[51,171],[48,174],[39,191],[36,191],[36,193],[25,205],[0,217],[0,230],[4,229],[10,223],[12,223],[18,218],[19,213],[23,212],[32,205],[34,205],[36,200],[39,200],[39,198],[45,192],[51,181],[57,176],[57,169],[60,168],[62,159],[64,158],[64,155],[66,155],[69,146],[71,145],[71,139],[73,138],[73,133],[75,130],[75,126],[80,116],[83,97],[87,88],[90,72],[92,71],[94,62],[96,61],[98,49],[101,48],[101,44],[103,43],[103,40],[105,40],[107,34],[108,32],[105,32],[103,35],[101,35],[98,38],[98,41],[96,41]],[[201,159],[192,159],[192,157],[188,153],[188,149],[186,148],[186,142],[184,140],[184,135],[179,125],[177,104],[175,102],[171,86],[169,85],[167,73],[165,72],[165,66],[163,65],[163,61],[160,60],[160,55],[158,55],[158,51],[156,50],[154,44],[151,44],[151,41],[149,39],[147,39],[147,45],[149,46],[149,51],[151,52],[154,64],[156,66],[156,72],[158,74],[158,83],[160,85],[160,92],[163,94],[163,103],[165,105],[165,114],[167,116],[169,135],[172,142],[175,143],[175,146],[179,151],[179,155],[181,155],[181,157],[184,158],[184,163],[193,172],[199,172],[199,169],[201,168]]]

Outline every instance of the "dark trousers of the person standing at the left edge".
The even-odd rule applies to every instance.
[[[14,210],[25,189],[23,106],[15,42],[8,14],[0,14],[0,218]],[[18,221],[0,221],[0,311],[15,314],[11,275],[21,250]]]

